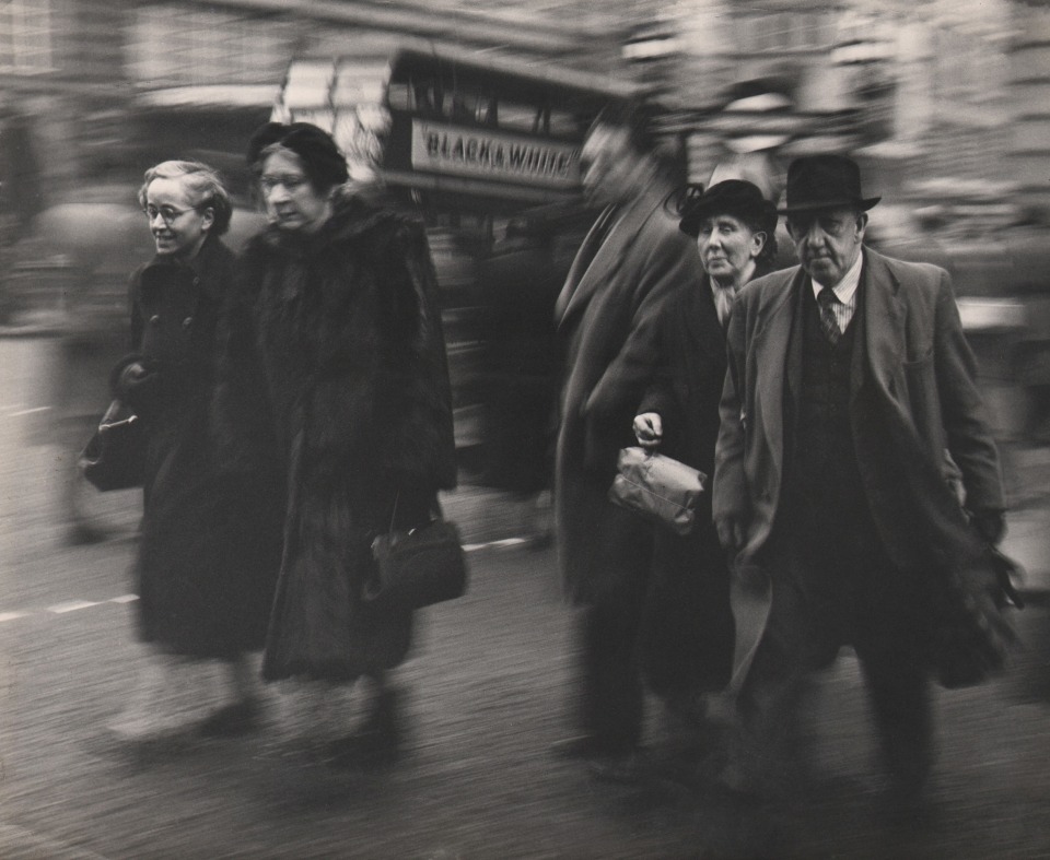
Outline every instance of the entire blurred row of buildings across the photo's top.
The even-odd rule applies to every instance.
[[[723,165],[775,187],[788,158],[837,149],[884,193],[1050,209],[1048,0],[8,0],[0,107],[33,119],[45,192],[61,193],[144,93],[265,102],[292,57],[398,35],[631,67],[701,181]]]

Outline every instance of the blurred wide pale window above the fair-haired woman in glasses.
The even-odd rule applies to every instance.
[[[275,19],[145,5],[130,25],[128,71],[160,86],[278,81],[294,35],[291,24]]]

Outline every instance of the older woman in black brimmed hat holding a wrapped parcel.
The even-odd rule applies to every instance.
[[[679,228],[697,240],[704,276],[676,292],[660,315],[658,369],[639,407],[634,435],[643,448],[710,479],[725,381],[725,326],[740,286],[769,272],[777,252],[777,210],[750,182],[728,179],[707,191],[690,189],[680,214]],[[710,495],[704,498],[690,534],[654,528],[652,587],[666,592],[661,629],[675,637],[668,650],[677,657],[669,667],[679,683],[692,681],[679,692],[674,710],[688,715],[684,728],[693,732],[703,724],[702,694],[722,690],[730,680],[735,640],[730,568],[711,520]],[[696,740],[702,746],[704,739]]]

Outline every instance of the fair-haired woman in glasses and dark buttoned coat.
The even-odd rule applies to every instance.
[[[184,161],[147,170],[139,202],[156,256],[131,276],[132,352],[112,375],[148,437],[139,625],[164,655],[225,662],[233,702],[199,728],[240,734],[257,727],[245,652],[262,645],[280,543],[250,504],[266,487],[223,472],[211,432],[217,325],[235,274],[219,237],[232,210],[217,173]],[[149,735],[161,721],[150,709],[137,703],[116,728]]]

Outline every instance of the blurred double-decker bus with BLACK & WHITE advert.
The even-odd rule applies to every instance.
[[[609,75],[412,40],[296,59],[280,87],[275,119],[330,131],[352,178],[424,216],[457,446],[486,483],[546,481],[553,302],[594,216],[580,150],[599,110],[640,95]]]

